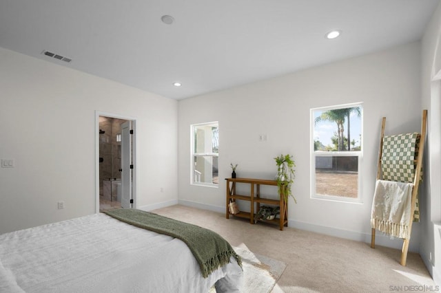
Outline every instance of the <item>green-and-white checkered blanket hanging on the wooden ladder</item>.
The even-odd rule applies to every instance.
[[[419,145],[420,133],[385,135],[381,156],[382,180],[413,183]],[[418,195],[413,221],[420,221]]]

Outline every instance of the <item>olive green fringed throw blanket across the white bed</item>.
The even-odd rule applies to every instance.
[[[127,224],[181,239],[201,266],[204,278],[229,263],[230,257],[242,265],[232,246],[212,230],[132,208],[107,210],[104,213]]]

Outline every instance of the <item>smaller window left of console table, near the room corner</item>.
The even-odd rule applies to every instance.
[[[192,125],[192,184],[218,186],[219,124]]]

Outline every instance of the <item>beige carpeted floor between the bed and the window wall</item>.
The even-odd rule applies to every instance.
[[[232,246],[287,263],[276,292],[405,292],[435,289],[419,254],[409,253],[400,265],[401,251],[313,232],[264,223],[256,225],[225,214],[187,206],[152,212],[218,232]]]

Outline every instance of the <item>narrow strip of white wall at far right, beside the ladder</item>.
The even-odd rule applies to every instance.
[[[422,107],[429,109],[424,160],[424,171],[429,175],[423,182],[427,197],[421,202],[425,213],[422,214],[420,254],[435,282],[441,284],[441,4],[422,39],[421,83]]]

